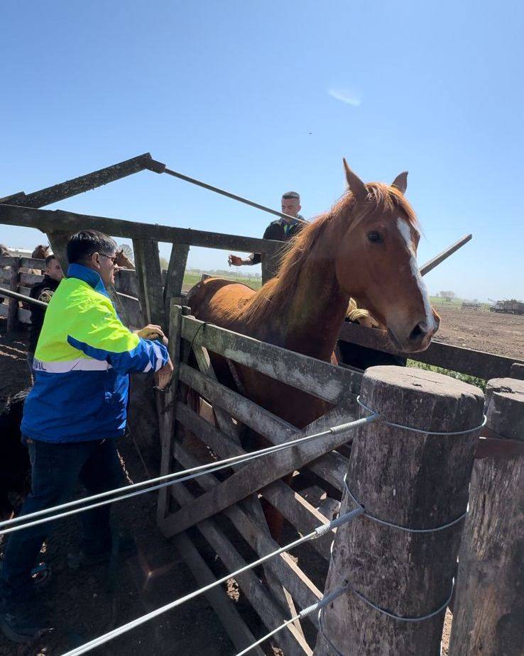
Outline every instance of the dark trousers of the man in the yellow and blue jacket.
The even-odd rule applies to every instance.
[[[20,515],[65,503],[71,499],[79,481],[89,495],[122,484],[115,439],[72,443],[28,440],[28,449],[31,494],[24,501]],[[85,553],[96,554],[111,548],[110,508],[108,504],[79,513],[84,529],[82,551]],[[9,535],[1,573],[3,596],[23,599],[31,594],[31,569],[56,523],[44,522]]]

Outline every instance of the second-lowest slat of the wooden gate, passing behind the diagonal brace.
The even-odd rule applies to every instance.
[[[190,504],[193,499],[190,491],[183,484],[174,485],[171,487],[171,495],[179,504]],[[165,531],[165,523],[160,526],[163,532]],[[220,530],[216,523],[211,519],[202,521],[197,525],[200,533],[204,535],[209,545],[212,546],[220,560],[224,563],[225,567],[230,572],[236,571],[241,567],[246,566],[246,561],[241,557],[234,545],[226,538],[222,530]],[[258,616],[260,616],[264,625],[269,629],[273,629],[283,623],[285,618],[278,605],[273,601],[273,597],[268,594],[266,587],[258,580],[253,570],[249,569],[244,574],[236,577],[239,586],[246,594],[246,597],[251,602]],[[302,656],[307,654],[311,656],[312,650],[305,640],[299,635],[298,631],[293,625],[288,627],[287,630],[280,631],[278,638],[275,638],[280,645],[283,646],[286,656]]]

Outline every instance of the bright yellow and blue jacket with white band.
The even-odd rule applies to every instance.
[[[158,371],[167,362],[163,344],[139,338],[120,321],[99,274],[70,265],[45,312],[22,434],[44,442],[119,437],[129,372]]]

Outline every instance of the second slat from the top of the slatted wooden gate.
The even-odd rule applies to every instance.
[[[257,406],[244,396],[236,394],[236,392],[227,389],[223,385],[204,377],[195,369],[182,365],[180,375],[183,382],[196,389],[201,396],[208,399],[214,406],[224,408],[231,416],[253,428],[256,433],[260,433],[271,443],[280,444],[297,435],[297,429],[292,424]],[[344,413],[346,413],[344,421],[350,421],[356,417],[354,397],[348,396],[342,407]],[[346,441],[348,440],[351,440],[351,435],[346,437]],[[342,490],[342,476],[345,473],[345,465],[346,462],[342,455],[327,453],[315,462],[311,462],[308,467],[334,487]]]

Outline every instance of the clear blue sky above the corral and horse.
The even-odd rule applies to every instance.
[[[474,233],[430,291],[522,299],[523,18],[517,1],[4,3],[0,196],[149,151],[275,208],[297,189],[310,218],[342,193],[345,156],[366,181],[409,170],[420,262]],[[269,219],[151,172],[60,208],[253,236]]]

